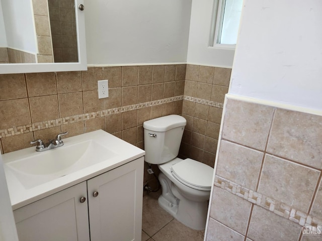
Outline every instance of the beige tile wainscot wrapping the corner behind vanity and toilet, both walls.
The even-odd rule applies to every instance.
[[[61,132],[71,137],[99,129],[144,149],[143,122],[174,113],[188,122],[181,156],[214,166],[229,76],[230,69],[186,64],[3,74],[0,149],[8,153]],[[98,99],[102,79],[109,80],[109,97]]]

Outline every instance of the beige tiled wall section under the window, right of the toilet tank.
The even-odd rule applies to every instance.
[[[182,116],[187,119],[180,155],[214,166],[224,95],[231,69],[187,65]]]

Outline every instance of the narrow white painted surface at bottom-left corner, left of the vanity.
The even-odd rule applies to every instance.
[[[9,192],[0,155],[0,241],[18,241],[14,214],[11,208]]]

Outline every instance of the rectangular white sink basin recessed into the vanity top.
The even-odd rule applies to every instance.
[[[22,185],[29,189],[44,182],[116,156],[99,143],[88,140],[23,157],[7,164]]]

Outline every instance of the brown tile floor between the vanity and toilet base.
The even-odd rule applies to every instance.
[[[142,241],[202,241],[204,230],[186,227],[162,209],[156,193],[144,193],[142,216]]]

